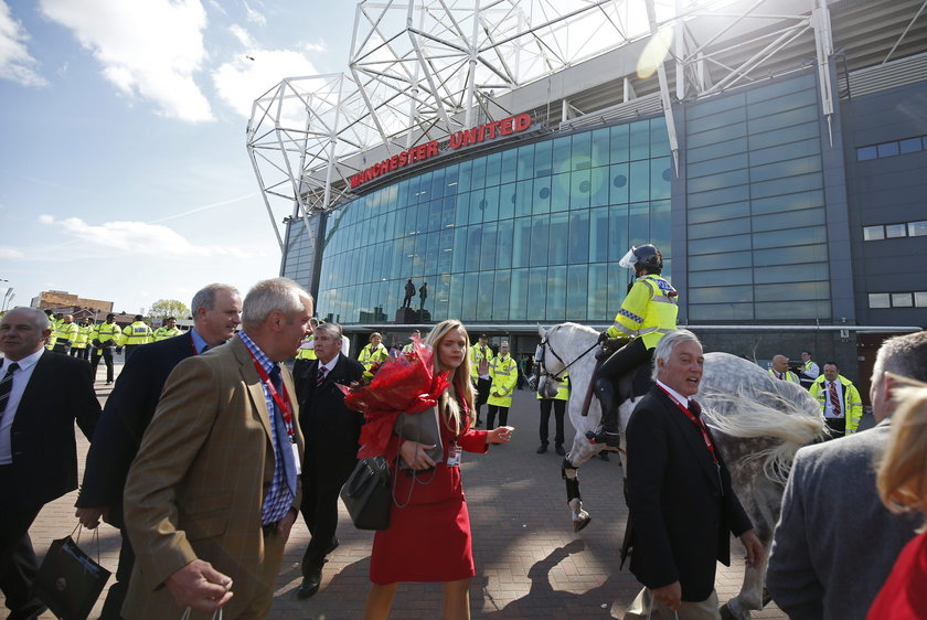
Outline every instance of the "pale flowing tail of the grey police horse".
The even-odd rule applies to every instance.
[[[801,389],[793,386],[796,389]],[[803,392],[803,391],[802,391]],[[805,393],[807,395],[807,393]],[[736,394],[705,394],[706,423],[725,435],[738,438],[772,438],[772,441],[745,457],[759,459],[766,477],[785,484],[799,448],[825,432],[820,409],[810,398],[789,397],[742,385]],[[805,400],[805,406],[802,406]],[[724,410],[725,413],[721,413]]]

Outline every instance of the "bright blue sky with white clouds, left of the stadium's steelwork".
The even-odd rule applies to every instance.
[[[354,6],[0,0],[0,300],[65,290],[138,312],[276,276],[251,105],[344,70]]]

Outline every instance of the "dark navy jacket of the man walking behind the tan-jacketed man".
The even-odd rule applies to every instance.
[[[193,356],[190,332],[140,346],[126,362],[94,432],[87,452],[78,507],[110,506],[110,521],[121,522],[122,489],[129,466],[151,423],[168,375]]]

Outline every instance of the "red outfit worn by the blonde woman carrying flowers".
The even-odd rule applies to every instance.
[[[399,438],[393,437],[386,457],[394,470],[394,496],[399,504],[408,504],[397,507],[394,502],[390,527],[373,538],[371,581],[457,581],[475,575],[460,468],[446,463],[448,448],[455,442],[466,452],[484,453],[487,432],[470,429],[468,421],[467,428],[455,436],[443,424],[444,460],[433,471],[416,472],[415,478],[406,475],[405,470],[396,473]]]

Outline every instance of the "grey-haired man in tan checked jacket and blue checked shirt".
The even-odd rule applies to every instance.
[[[280,362],[306,335],[312,298],[255,285],[243,331],[171,373],[129,471],[125,516],[136,565],[122,614],[264,618],[300,505],[303,440]]]

